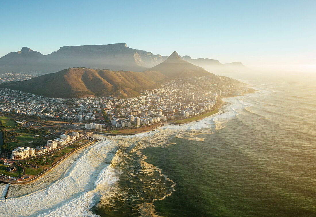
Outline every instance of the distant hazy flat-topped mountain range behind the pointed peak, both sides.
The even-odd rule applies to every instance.
[[[217,60],[180,58],[209,71],[217,72],[218,68],[232,70]],[[64,46],[51,54],[43,55],[30,48],[11,52],[0,58],[0,73],[24,72],[42,73],[58,72],[69,67],[86,67],[109,69],[112,71],[143,71],[165,61],[167,56],[154,55],[144,50],[127,47],[125,43],[107,45]]]

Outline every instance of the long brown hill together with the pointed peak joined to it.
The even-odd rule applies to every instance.
[[[217,76],[180,58],[173,52],[166,61],[143,72],[69,68],[20,82],[7,82],[0,88],[20,90],[55,98],[115,95],[135,97],[166,81],[192,76]]]

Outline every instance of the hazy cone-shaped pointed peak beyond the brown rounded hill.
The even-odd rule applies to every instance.
[[[182,60],[176,51],[174,51],[167,60],[157,66],[146,69],[145,72],[159,72],[168,78],[214,75],[202,67],[195,66]]]

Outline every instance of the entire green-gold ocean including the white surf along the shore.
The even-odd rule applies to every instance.
[[[315,216],[316,74],[223,75],[257,92],[197,122],[96,135],[10,187],[1,216]]]

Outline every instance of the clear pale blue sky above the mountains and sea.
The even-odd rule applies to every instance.
[[[154,54],[316,63],[316,1],[1,1],[0,56],[23,46],[127,43]]]

